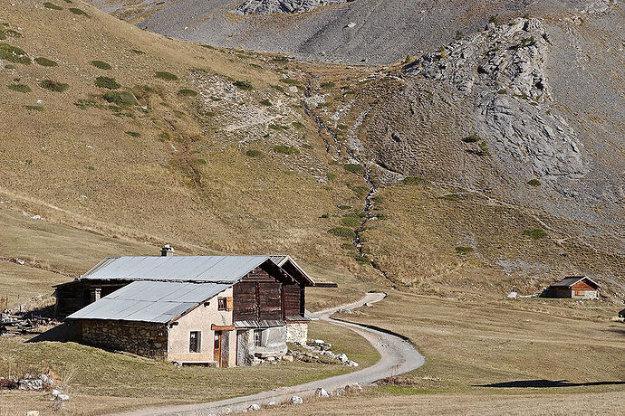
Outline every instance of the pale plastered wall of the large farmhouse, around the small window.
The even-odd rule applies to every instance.
[[[208,305],[200,305],[184,317],[178,319],[178,325],[168,328],[168,361],[214,361],[213,341],[215,332],[212,325],[231,326],[232,311],[217,310],[217,298],[232,296],[232,288],[227,288],[216,297],[211,298]],[[189,336],[191,331],[201,332],[200,352],[189,353]],[[222,350],[226,349],[229,364],[236,364],[236,331],[226,331],[222,337]],[[224,353],[222,353],[224,354]]]

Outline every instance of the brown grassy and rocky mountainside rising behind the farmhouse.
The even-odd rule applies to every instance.
[[[11,7],[3,209],[290,252],[348,288],[532,293],[587,273],[622,291],[618,4],[499,17],[388,68],[203,47],[75,1]]]

